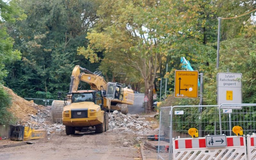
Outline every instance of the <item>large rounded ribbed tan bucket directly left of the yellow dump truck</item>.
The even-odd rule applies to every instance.
[[[67,101],[69,105],[71,101]],[[64,100],[53,100],[52,101],[52,122],[62,123],[62,111],[65,106]]]

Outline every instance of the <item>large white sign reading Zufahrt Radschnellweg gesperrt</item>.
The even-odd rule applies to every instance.
[[[242,73],[218,73],[218,105],[242,103]],[[221,108],[241,109],[241,106]]]

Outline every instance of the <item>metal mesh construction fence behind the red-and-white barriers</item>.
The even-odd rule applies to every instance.
[[[198,129],[199,137],[222,134],[234,136],[232,132],[234,126],[241,126],[244,135],[252,135],[256,132],[255,106],[256,104],[222,104],[162,107],[160,109],[158,159],[172,159],[172,138],[174,140],[191,138],[188,135],[189,128]],[[228,108],[239,109],[229,110]],[[247,136],[245,138],[247,139]],[[254,152],[256,155],[256,149]]]

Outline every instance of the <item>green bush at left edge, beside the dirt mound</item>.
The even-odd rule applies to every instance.
[[[0,86],[0,125],[13,124],[15,122],[15,117],[8,111],[11,105],[11,95]]]

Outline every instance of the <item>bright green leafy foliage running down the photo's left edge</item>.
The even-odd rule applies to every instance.
[[[6,24],[13,24],[16,21],[23,20],[26,15],[17,7],[15,3],[6,3],[0,0],[0,84],[5,76],[7,70],[5,64],[20,59],[20,52],[13,50],[13,39],[7,33],[8,28]],[[7,109],[11,106],[11,97],[0,86],[0,124],[12,124],[14,117]]]

